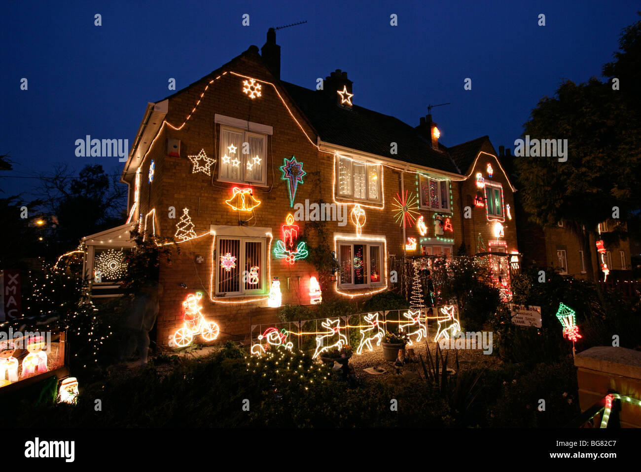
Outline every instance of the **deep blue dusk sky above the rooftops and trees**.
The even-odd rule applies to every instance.
[[[335,69],[354,103],[418,125],[429,103],[446,146],[489,135],[513,147],[530,110],[563,78],[585,82],[637,20],[635,1],[82,2],[3,4],[0,153],[37,175],[55,162],[76,171],[117,158],[76,157],[74,141],[129,139],[148,101],[195,82],[279,30],[281,78],[315,87]],[[367,6],[365,6],[367,5]],[[102,26],[94,26],[101,13]],[[250,26],[242,26],[249,13]],[[390,14],[398,26],[390,26]],[[546,26],[537,25],[539,13]],[[28,91],[20,80],[28,78]],[[472,90],[463,80],[472,78]],[[37,184],[2,179],[8,194]]]

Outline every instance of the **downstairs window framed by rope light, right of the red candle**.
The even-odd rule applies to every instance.
[[[382,276],[383,245],[339,241],[338,286],[359,288],[385,283]]]

